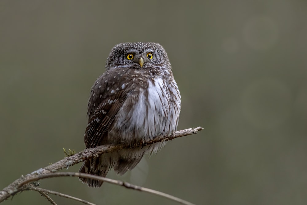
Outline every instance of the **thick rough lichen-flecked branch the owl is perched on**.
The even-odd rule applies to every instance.
[[[202,130],[203,128],[197,127],[197,128],[189,128],[185,130],[179,130],[176,132],[173,132],[167,136],[163,137],[158,137],[154,138],[153,140],[150,140],[146,142],[146,145],[154,144],[157,142],[164,142],[168,140],[173,140],[177,137],[182,137],[182,136],[187,136],[187,135],[192,135],[196,134],[197,131]],[[112,144],[106,144],[102,146],[98,146],[95,148],[89,148],[85,149],[79,153],[76,153],[75,155],[65,157],[63,160],[60,160],[56,163],[53,163],[45,168],[40,168],[36,171],[33,171],[30,174],[27,174],[25,176],[21,176],[19,179],[16,179],[13,183],[5,187],[2,191],[0,191],[0,203],[6,199],[8,199],[10,196],[13,196],[17,194],[18,192],[22,191],[22,187],[20,184],[23,184],[24,181],[32,179],[33,177],[37,175],[42,175],[42,174],[48,174],[48,173],[54,173],[57,171],[60,171],[64,168],[68,168],[70,166],[73,166],[77,163],[80,163],[84,160],[93,158],[93,157],[98,157],[103,153],[109,153],[109,152],[114,152],[116,150],[124,149],[124,148],[135,148],[135,147],[140,147],[142,144],[134,144],[132,147],[124,147],[123,145],[117,144],[117,145],[112,145]]]

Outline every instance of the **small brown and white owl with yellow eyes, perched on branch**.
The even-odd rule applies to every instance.
[[[158,43],[120,43],[111,50],[106,71],[94,83],[87,108],[86,148],[103,144],[146,143],[176,131],[181,96],[164,48]],[[122,149],[86,160],[79,172],[123,175],[146,153],[165,143]],[[80,178],[90,187],[102,181]]]

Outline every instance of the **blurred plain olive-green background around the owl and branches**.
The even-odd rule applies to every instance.
[[[0,189],[63,147],[84,149],[87,99],[111,48],[153,41],[181,91],[178,129],[204,130],[108,177],[196,204],[306,204],[306,19],[304,0],[1,0]],[[40,187],[97,204],[177,204],[77,178]],[[3,204],[49,202],[27,191]]]

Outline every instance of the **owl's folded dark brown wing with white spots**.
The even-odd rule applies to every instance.
[[[116,80],[114,76],[104,73],[92,87],[87,108],[88,124],[84,134],[86,148],[106,143],[104,137],[127,98],[131,85]]]

